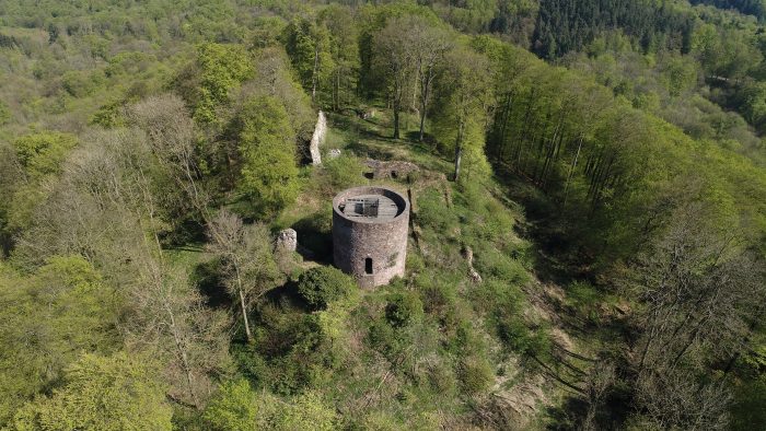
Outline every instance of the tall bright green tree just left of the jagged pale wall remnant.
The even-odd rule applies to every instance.
[[[260,213],[272,213],[295,200],[295,135],[280,102],[272,97],[248,101],[240,114],[237,129],[242,158],[240,191]]]

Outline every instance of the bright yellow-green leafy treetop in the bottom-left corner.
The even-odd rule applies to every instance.
[[[164,386],[146,358],[84,354],[67,368],[65,385],[24,406],[16,430],[171,430]]]

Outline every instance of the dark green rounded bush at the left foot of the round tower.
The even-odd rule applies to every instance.
[[[353,287],[351,277],[329,266],[311,268],[298,279],[298,293],[314,310],[347,296]]]

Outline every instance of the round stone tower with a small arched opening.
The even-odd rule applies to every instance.
[[[335,266],[362,288],[404,276],[409,201],[384,187],[355,187],[333,199]]]

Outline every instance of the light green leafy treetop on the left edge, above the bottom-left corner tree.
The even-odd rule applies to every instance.
[[[48,260],[28,279],[0,272],[0,422],[62,378],[82,351],[117,345],[119,295],[79,256]]]

